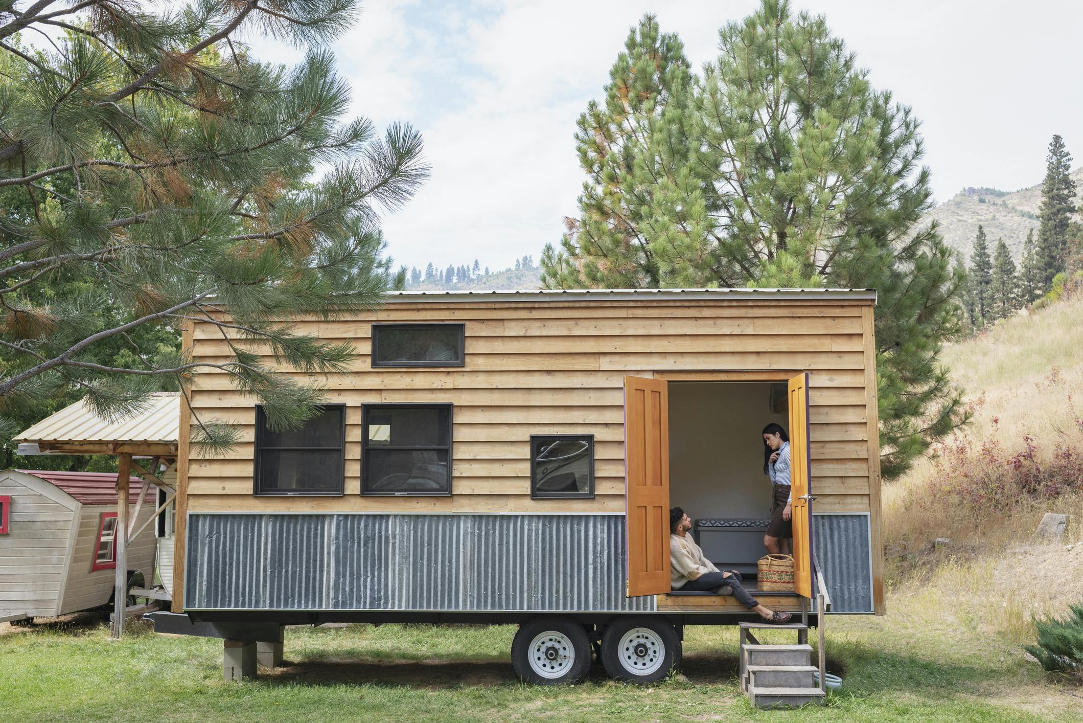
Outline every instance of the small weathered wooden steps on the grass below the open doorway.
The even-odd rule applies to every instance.
[[[807,624],[742,622],[740,625],[741,689],[752,705],[757,708],[797,708],[810,702],[823,702],[824,690],[812,679],[812,674],[819,671],[823,681],[823,670],[811,664],[812,646],[808,644]],[[797,643],[764,645],[756,640],[753,631],[768,629],[796,630]]]

